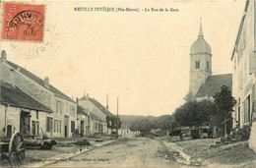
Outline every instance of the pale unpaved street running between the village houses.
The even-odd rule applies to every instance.
[[[160,140],[119,140],[49,167],[178,167]]]

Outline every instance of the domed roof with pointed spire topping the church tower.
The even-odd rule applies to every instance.
[[[212,55],[211,46],[207,43],[203,34],[202,22],[200,23],[198,38],[190,47],[190,55],[209,54]]]

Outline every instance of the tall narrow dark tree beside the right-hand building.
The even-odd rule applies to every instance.
[[[225,85],[221,87],[221,92],[215,93],[215,106],[217,108],[216,116],[217,124],[221,128],[221,135],[226,134],[226,122],[231,120],[231,112],[233,111],[233,106],[235,104],[235,99],[232,97],[231,91]],[[218,119],[219,118],[219,119]]]

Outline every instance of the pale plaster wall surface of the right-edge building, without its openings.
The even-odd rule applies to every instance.
[[[248,10],[244,19],[243,26],[239,30],[238,40],[235,44],[235,52],[232,58],[232,95],[236,99],[236,105],[234,107],[233,113],[233,127],[236,127],[236,122],[238,126],[243,127],[244,124],[248,124],[250,121],[245,119],[245,111],[247,97],[250,96],[250,107],[249,111],[252,114],[255,113],[253,108],[253,102],[255,103],[255,84],[256,76],[255,74],[250,74],[250,62],[251,53],[254,51],[255,46],[255,27],[254,27],[254,1],[249,1]],[[240,115],[238,113],[238,108],[240,109]],[[240,121],[238,122],[240,116]],[[251,116],[252,117],[252,116]],[[250,118],[252,120],[252,118]]]

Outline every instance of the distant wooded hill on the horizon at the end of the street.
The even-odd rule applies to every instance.
[[[154,117],[154,116],[136,116],[136,115],[120,115],[120,120],[122,122],[122,129],[129,129],[130,126],[133,124],[136,120],[141,119],[148,119],[148,120],[157,120],[164,117],[169,117],[170,115],[164,115],[160,117]]]

